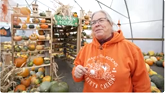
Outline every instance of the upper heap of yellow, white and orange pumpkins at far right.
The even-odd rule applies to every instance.
[[[147,54],[143,53],[144,61],[152,66],[156,64],[156,66],[164,67],[164,53],[155,53],[154,51],[149,51]]]

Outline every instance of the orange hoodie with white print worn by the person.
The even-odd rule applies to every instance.
[[[74,61],[75,82],[84,80],[84,92],[150,92],[150,79],[141,50],[126,40],[122,31],[103,45],[93,39]],[[77,65],[88,68],[81,77],[74,76]]]

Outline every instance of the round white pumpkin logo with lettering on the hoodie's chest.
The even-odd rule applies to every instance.
[[[86,82],[94,88],[107,89],[115,82],[116,67],[118,64],[109,56],[102,54],[88,58],[86,67]],[[103,80],[104,83],[95,82],[94,79]],[[94,80],[94,81],[93,81]]]

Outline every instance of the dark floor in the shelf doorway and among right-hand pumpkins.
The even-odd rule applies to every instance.
[[[62,78],[62,81],[65,81],[68,83],[69,92],[82,92],[83,91],[83,82],[74,82],[72,78],[72,65],[70,63],[67,63],[65,60],[62,59],[56,59],[55,62],[58,64],[58,75],[64,76]],[[151,66],[151,69],[156,71],[158,74],[162,75],[164,77],[164,68],[163,67],[157,67],[156,65]],[[160,89],[162,92],[164,89]]]

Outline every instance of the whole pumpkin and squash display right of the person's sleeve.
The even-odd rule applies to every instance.
[[[161,92],[164,90],[164,78],[156,71],[151,69],[152,65],[158,67],[164,67],[164,54],[163,53],[154,53],[154,51],[149,51],[147,54],[143,53],[146,68],[151,80],[151,91],[152,92]]]

